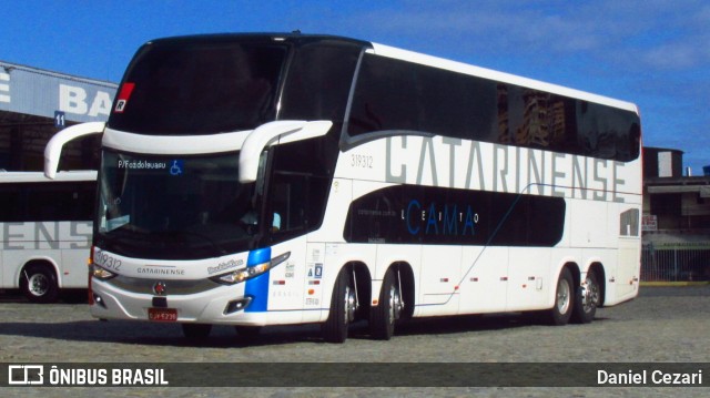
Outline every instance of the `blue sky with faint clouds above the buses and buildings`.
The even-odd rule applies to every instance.
[[[118,83],[144,42],[326,33],[636,103],[646,146],[710,165],[706,0],[0,0],[0,60]]]

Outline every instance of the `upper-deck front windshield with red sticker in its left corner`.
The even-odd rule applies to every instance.
[[[155,41],[129,67],[109,127],[151,135],[252,130],[273,120],[284,44]]]

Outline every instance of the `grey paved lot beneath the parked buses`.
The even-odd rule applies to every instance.
[[[33,305],[0,299],[0,363],[710,363],[710,286],[648,287],[631,303],[597,312],[589,325],[551,327],[526,316],[416,320],[390,341],[374,341],[355,325],[344,345],[322,343],[317,326],[266,328],[253,340],[217,327],[195,345],[178,325],[99,322],[83,304]],[[295,365],[294,371],[303,365]],[[432,365],[432,371],[442,369]],[[443,369],[456,370],[444,366]],[[515,369],[514,369],[515,371]],[[308,374],[304,371],[304,374]],[[317,371],[315,373],[317,376]],[[313,375],[313,373],[311,373]],[[234,375],[234,377],[240,377]],[[396,377],[396,373],[393,374]],[[710,380],[710,371],[703,375]],[[706,381],[707,385],[708,381]],[[6,389],[23,396],[69,389]],[[97,396],[74,388],[72,395]],[[29,392],[29,395],[28,395]],[[484,397],[703,396],[707,388],[109,388],[100,396]],[[4,396],[4,391],[3,391]],[[242,396],[242,394],[240,394]]]

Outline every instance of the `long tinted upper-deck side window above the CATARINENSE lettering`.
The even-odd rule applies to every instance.
[[[628,162],[635,112],[407,61],[365,54],[347,134],[424,133]],[[373,134],[375,133],[375,134]]]

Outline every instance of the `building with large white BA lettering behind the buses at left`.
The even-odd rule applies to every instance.
[[[49,139],[67,125],[105,121],[116,86],[0,61],[0,170],[42,170]],[[68,169],[95,167],[98,142],[69,147]]]

